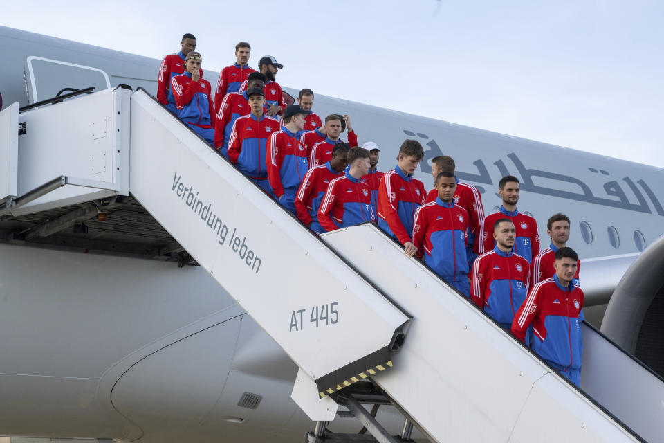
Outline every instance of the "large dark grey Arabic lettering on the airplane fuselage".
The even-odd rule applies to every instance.
[[[420,136],[420,134],[417,135]],[[427,147],[429,147],[429,149],[425,150],[424,158],[420,162],[420,169],[422,170],[422,172],[431,173],[430,160],[436,156],[443,155],[443,151],[436,143],[436,141],[433,139],[430,139],[425,144],[427,145]],[[584,183],[581,179],[578,179],[577,177],[558,174],[557,172],[538,170],[535,168],[526,168],[524,162],[521,159],[519,159],[519,156],[517,156],[517,154],[515,154],[514,152],[508,154],[507,157],[513,163],[514,165],[513,171],[517,172],[516,174],[514,172],[510,172],[510,168],[506,166],[503,160],[495,161],[493,164],[497,167],[497,172],[499,172],[499,177],[504,177],[506,175],[516,175],[517,177],[521,177],[522,191],[535,192],[536,194],[551,195],[552,197],[560,197],[562,199],[585,201],[587,203],[609,206],[611,208],[620,208],[625,210],[636,211],[639,213],[652,214],[652,210],[647,200],[643,196],[641,190],[638,188],[638,186],[640,186],[641,188],[643,188],[645,195],[647,195],[648,199],[652,202],[652,206],[655,212],[658,215],[664,216],[664,208],[662,207],[660,201],[657,199],[652,189],[647,185],[647,183],[645,183],[645,181],[643,181],[643,179],[638,179],[636,183],[634,183],[634,180],[632,180],[631,178],[623,177],[623,181],[627,184],[627,187],[629,187],[629,190],[636,198],[636,202],[632,202],[629,200],[629,197],[627,197],[627,193],[625,192],[625,190],[623,190],[623,188],[620,186],[620,183],[616,180],[611,180],[604,183],[604,192],[608,197],[598,197],[593,194],[590,186],[588,186],[586,183]],[[477,168],[477,174],[474,172],[462,172],[460,170],[457,170],[457,177],[459,178],[459,180],[468,181],[473,184],[481,183],[493,186],[494,183],[491,179],[491,175],[489,173],[488,168],[486,168],[486,165],[484,164],[484,161],[482,159],[477,159],[476,161],[472,162],[472,164],[475,166],[475,168]],[[593,172],[595,174],[601,173],[604,175],[609,175],[609,173],[604,170],[597,170],[596,168],[588,168],[588,169],[590,170],[590,172]],[[569,184],[571,183],[573,186],[578,187],[578,192],[572,192],[557,188],[548,188],[546,186],[537,185],[535,184],[534,181],[535,177],[548,179],[548,181],[551,180],[559,181],[565,184],[565,186],[561,186],[561,188],[565,189],[569,188]]]

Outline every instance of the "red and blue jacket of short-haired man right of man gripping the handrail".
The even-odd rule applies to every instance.
[[[465,256],[468,212],[454,201],[448,204],[438,198],[419,206],[414,218],[413,244],[418,257],[424,256],[424,263],[432,271],[470,296]]]

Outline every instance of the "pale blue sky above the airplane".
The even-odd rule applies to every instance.
[[[662,2],[95,3],[12,2],[0,24],[155,58],[192,32],[214,70],[246,40],[287,87],[664,168]]]

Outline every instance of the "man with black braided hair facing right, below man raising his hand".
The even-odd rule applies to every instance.
[[[341,177],[348,165],[348,143],[337,143],[332,150],[332,158],[324,165],[316,166],[306,172],[302,185],[295,197],[297,218],[313,232],[322,234],[325,230],[318,223],[318,208],[330,182]]]

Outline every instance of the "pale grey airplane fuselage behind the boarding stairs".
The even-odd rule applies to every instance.
[[[3,108],[28,104],[26,82],[38,87],[29,69],[24,80],[28,57],[91,66],[108,75],[111,87],[156,94],[160,60],[11,28],[0,27],[0,36]],[[89,86],[80,83],[84,77],[74,84],[53,72],[48,81],[61,89]],[[205,70],[211,84],[216,76]],[[297,96],[297,89],[284,91]],[[394,168],[405,138],[420,141],[425,159],[415,177],[427,189],[430,160],[452,156],[459,179],[480,190],[486,214],[500,206],[499,179],[515,175],[517,208],[537,220],[541,249],[549,243],[548,217],[570,217],[569,246],[582,257],[580,279],[589,293],[602,278],[620,276],[584,280],[585,263],[609,266],[636,256],[662,233],[659,168],[326,96],[315,96],[313,110],[322,118],[349,114],[360,145],[380,146],[382,171]],[[0,231],[2,239],[9,230]],[[0,336],[0,435],[290,442],[313,427],[290,398],[295,364],[200,267],[0,244]],[[244,392],[262,396],[257,409],[238,405]],[[380,414],[396,433],[398,415]],[[360,427],[353,419],[333,425]]]

